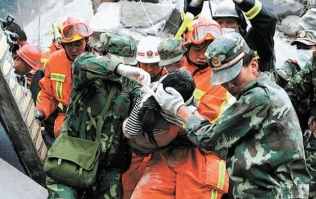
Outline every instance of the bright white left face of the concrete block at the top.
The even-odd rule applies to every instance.
[[[96,32],[122,27],[120,2],[104,2],[97,8],[97,13],[90,20],[90,26]]]

